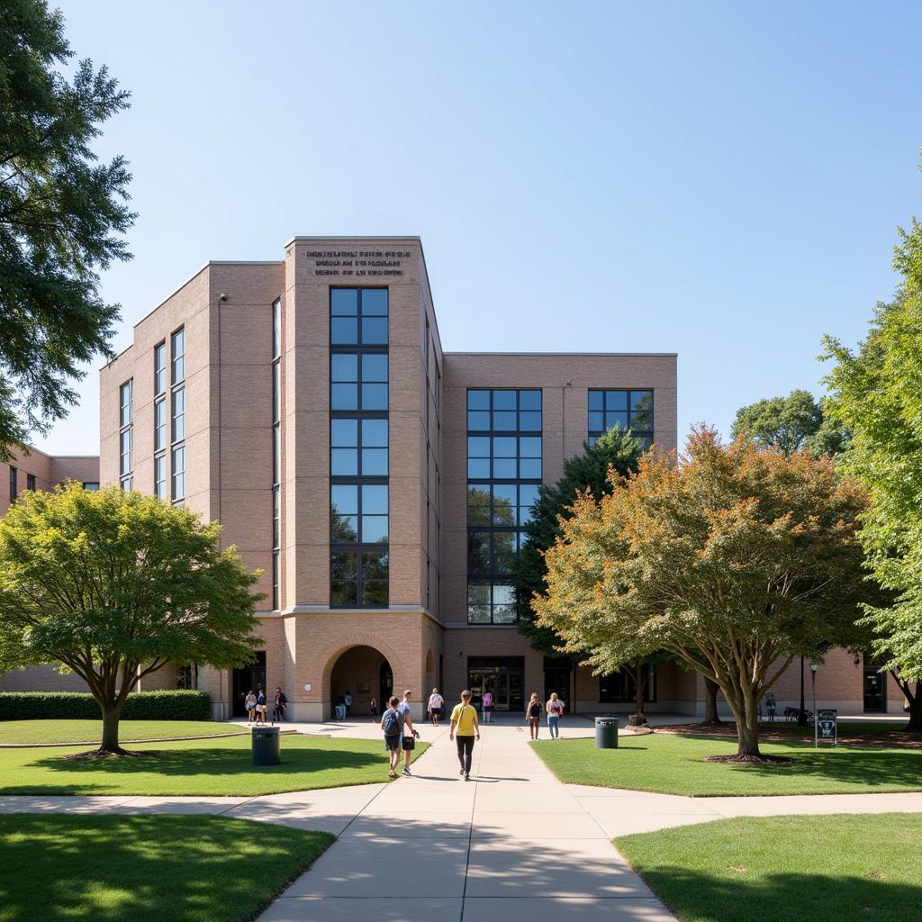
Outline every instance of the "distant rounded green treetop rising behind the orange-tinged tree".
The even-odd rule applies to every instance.
[[[847,428],[833,420],[810,391],[791,391],[786,397],[758,400],[737,410],[732,438],[746,435],[760,445],[774,445],[786,455],[807,452],[839,455],[848,443]]]

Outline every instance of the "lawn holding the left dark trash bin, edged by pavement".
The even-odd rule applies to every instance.
[[[249,734],[139,743],[138,755],[113,759],[66,758],[80,747],[0,750],[0,794],[254,797],[387,780],[377,739],[283,736],[281,748],[282,763],[265,768],[250,762]]]

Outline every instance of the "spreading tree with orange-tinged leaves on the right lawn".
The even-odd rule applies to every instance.
[[[644,455],[609,495],[576,502],[545,555],[538,622],[597,668],[676,656],[723,692],[735,758],[758,760],[762,693],[794,656],[854,639],[865,503],[828,457],[694,430],[684,455]]]

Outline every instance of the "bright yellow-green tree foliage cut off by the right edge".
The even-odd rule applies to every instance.
[[[922,731],[922,225],[900,230],[893,267],[902,275],[879,304],[857,352],[826,337],[834,417],[852,431],[845,469],[869,488],[859,538],[873,578],[892,602],[871,605],[864,623]]]

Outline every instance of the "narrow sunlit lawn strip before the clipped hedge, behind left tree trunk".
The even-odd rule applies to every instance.
[[[123,742],[170,737],[220,737],[248,733],[248,727],[212,720],[123,720]],[[0,720],[2,743],[98,743],[101,720]]]

